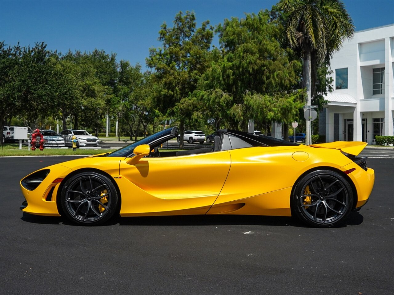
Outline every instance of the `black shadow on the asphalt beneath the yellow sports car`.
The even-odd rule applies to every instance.
[[[23,213],[21,218],[29,223],[74,225],[62,217],[37,216]],[[359,212],[351,212],[344,225],[360,225],[364,220]],[[211,225],[266,225],[280,227],[309,227],[300,220],[281,216],[251,216],[251,215],[182,215],[182,216],[144,216],[144,217],[115,217],[99,226],[129,225],[129,226],[211,226]],[[335,227],[334,227],[335,228]]]

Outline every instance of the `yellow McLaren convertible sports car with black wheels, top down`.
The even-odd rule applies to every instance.
[[[214,145],[160,151],[162,130],[121,149],[35,171],[20,181],[30,214],[98,225],[115,214],[297,216],[315,227],[343,223],[374,186],[357,155],[365,142],[304,146],[229,129]]]

